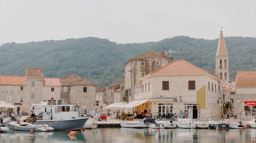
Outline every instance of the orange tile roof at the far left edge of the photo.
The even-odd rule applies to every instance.
[[[25,76],[1,75],[0,76],[0,84],[25,86],[26,85],[26,77]]]

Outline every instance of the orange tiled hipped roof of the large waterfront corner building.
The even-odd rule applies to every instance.
[[[150,73],[151,75],[207,74],[205,70],[183,60],[175,60]]]

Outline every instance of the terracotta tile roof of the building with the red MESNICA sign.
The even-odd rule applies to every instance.
[[[256,87],[256,71],[237,71],[236,87]]]

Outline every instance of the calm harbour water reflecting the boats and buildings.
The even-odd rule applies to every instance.
[[[188,132],[193,131],[193,132]],[[196,132],[195,132],[196,131]],[[98,128],[77,132],[68,136],[69,132],[30,132],[10,130],[1,133],[0,143],[251,143],[256,142],[256,129],[130,129],[130,128]]]

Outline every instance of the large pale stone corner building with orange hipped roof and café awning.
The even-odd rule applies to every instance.
[[[142,77],[131,105],[138,112],[179,113],[189,118],[220,117],[223,108],[220,78],[180,59]],[[184,111],[184,110],[183,110]]]

